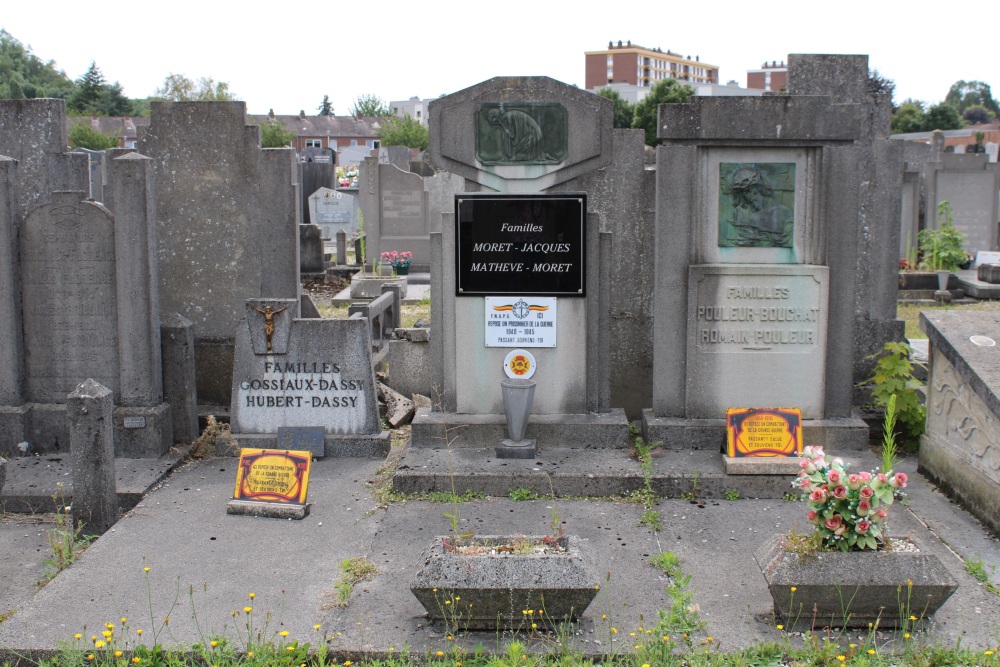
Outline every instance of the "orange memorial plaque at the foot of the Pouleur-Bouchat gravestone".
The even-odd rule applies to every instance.
[[[730,457],[797,456],[801,451],[801,409],[726,410],[726,453]]]

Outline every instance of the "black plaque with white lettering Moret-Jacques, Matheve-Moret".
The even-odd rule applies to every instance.
[[[457,296],[586,296],[586,195],[455,195],[455,221]]]

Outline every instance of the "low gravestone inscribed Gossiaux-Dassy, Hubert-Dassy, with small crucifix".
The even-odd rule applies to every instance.
[[[325,456],[385,456],[367,319],[298,319],[291,299],[251,299],[236,332],[232,433],[274,448],[281,428],[322,427]]]

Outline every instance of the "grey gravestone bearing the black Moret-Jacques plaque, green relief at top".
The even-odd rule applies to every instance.
[[[456,445],[486,447],[492,458],[506,437],[505,366],[521,372],[528,364],[537,390],[526,438],[543,450],[624,446],[625,414],[611,408],[609,398],[611,235],[587,214],[589,195],[579,189],[583,179],[572,180],[611,164],[611,105],[546,77],[499,77],[431,105],[432,161],[464,177],[466,188],[454,195],[455,212],[444,216],[440,234],[431,235],[431,364],[433,384],[442,393],[440,409],[421,410],[414,419],[414,447],[440,446],[447,421],[449,427],[461,424],[454,431]],[[477,125],[484,109],[509,110],[519,120],[507,122],[519,123],[529,135],[551,133],[553,139],[526,151],[515,142],[514,152],[504,153],[502,128]],[[495,145],[483,155],[477,149],[487,138]],[[372,162],[365,169],[378,168],[383,193],[401,190],[416,177]],[[559,184],[566,191],[555,192]],[[486,194],[491,190],[498,194]],[[403,210],[397,202],[412,213],[417,208],[415,197],[408,204],[388,201],[401,209],[396,213]],[[384,232],[381,244],[386,249]],[[501,294],[515,302],[489,302]],[[544,303],[551,297],[554,308]],[[502,340],[506,335],[488,342],[490,318],[513,317],[517,329],[536,315],[544,319],[547,309],[555,311],[545,320],[555,335],[544,337],[544,347],[518,353],[516,334],[513,342]],[[516,364],[508,363],[512,354],[520,360]]]

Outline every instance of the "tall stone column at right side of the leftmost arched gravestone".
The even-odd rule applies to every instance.
[[[152,178],[152,160],[138,153],[107,165],[105,202],[115,216],[119,400],[125,407],[163,400]]]

